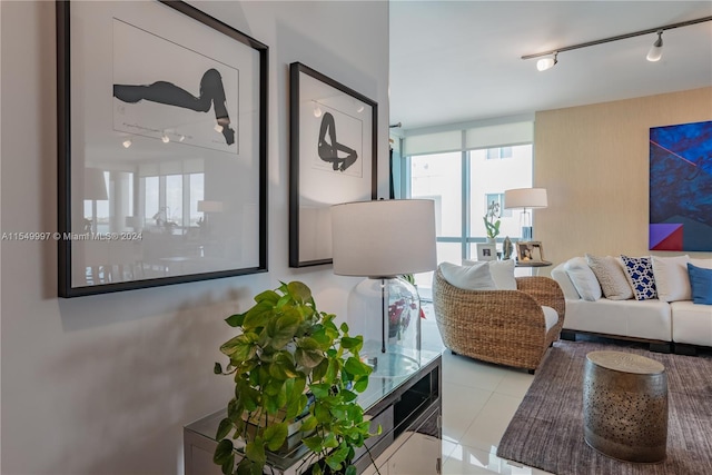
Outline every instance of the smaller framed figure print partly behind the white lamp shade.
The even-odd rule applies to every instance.
[[[378,105],[289,66],[289,267],[330,264],[329,207],[376,198]]]

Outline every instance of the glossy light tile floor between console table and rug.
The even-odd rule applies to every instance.
[[[432,305],[424,305],[423,347],[442,348]],[[495,454],[534,376],[443,353],[443,474],[547,474]]]

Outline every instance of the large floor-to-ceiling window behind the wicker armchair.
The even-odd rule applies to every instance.
[[[505,237],[522,237],[521,210],[506,209],[504,191],[532,187],[531,122],[417,135],[409,150],[407,140],[400,197],[435,201],[438,263],[476,258],[476,243],[487,240],[483,217],[492,201],[500,204],[497,249]],[[416,283],[427,294],[432,273],[416,276]]]

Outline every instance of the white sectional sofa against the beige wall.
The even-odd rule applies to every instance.
[[[601,274],[603,259],[612,273],[619,273],[615,267],[620,266],[617,290],[612,288],[611,276]],[[585,333],[641,339],[659,352],[670,352],[671,344],[679,353],[694,352],[696,346],[712,347],[712,305],[693,303],[684,271],[686,263],[712,268],[712,259],[655,256],[650,260],[659,291],[657,298],[644,300],[637,300],[634,290],[629,293],[633,289],[630,278],[626,283],[631,289],[624,288],[621,276],[627,277],[627,271],[621,258],[586,255],[556,266],[552,278],[566,300],[562,337]]]

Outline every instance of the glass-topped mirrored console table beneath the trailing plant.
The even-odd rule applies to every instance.
[[[355,465],[359,474],[375,474],[372,463],[382,474],[433,475],[441,472],[442,439],[442,356],[421,352],[421,368],[396,378],[370,377],[368,388],[358,402],[372,418],[372,433],[380,424],[383,432],[366,441],[356,452]],[[225,409],[212,413],[184,427],[184,458],[186,475],[221,475],[212,463],[217,445],[215,435]],[[295,439],[293,439],[295,437]],[[239,461],[239,441],[235,441]],[[305,461],[310,453],[297,433],[281,449],[269,453],[265,473],[278,475],[309,474]]]

